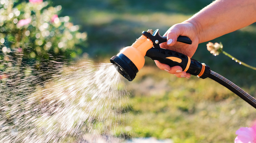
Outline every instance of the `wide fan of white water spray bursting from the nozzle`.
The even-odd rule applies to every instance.
[[[46,45],[51,47],[52,43],[47,42]],[[19,50],[18,47],[12,48]],[[32,49],[29,48],[24,51]],[[3,47],[2,50],[7,52],[8,48]],[[26,56],[33,58],[38,52],[43,52],[40,46],[35,50],[36,53],[30,51],[30,55]],[[20,64],[21,61],[7,55],[4,60],[6,66],[10,66],[10,73],[15,73],[15,76],[6,73],[0,75],[0,79],[10,80],[0,86],[0,102],[3,103],[0,105],[0,118],[3,119],[0,127],[8,130],[1,133],[8,139],[5,141],[3,138],[2,142],[16,142],[18,138],[14,136],[25,142],[38,143],[53,140],[65,142],[70,138],[73,142],[84,142],[81,141],[84,136],[89,137],[86,138],[88,142],[100,142],[95,137],[103,139],[102,135],[114,134],[116,121],[129,119],[126,113],[120,113],[120,108],[128,104],[125,97],[129,93],[111,63],[84,61],[67,64],[56,61],[51,54],[48,64],[42,61]],[[12,69],[13,65],[15,69]],[[42,69],[36,70],[39,67]],[[123,86],[120,88],[120,85]],[[11,117],[8,120],[10,124],[5,120],[7,116]],[[119,128],[123,128],[122,131],[131,130],[129,126],[121,125]],[[90,140],[92,135],[94,140]],[[108,139],[116,142],[111,136]]]

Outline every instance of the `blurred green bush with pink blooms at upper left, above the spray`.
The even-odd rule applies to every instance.
[[[61,6],[49,2],[19,2],[2,0],[0,3],[1,60],[11,62],[49,59],[65,56],[67,59],[82,54],[87,34],[78,32],[79,26],[69,16],[58,17]],[[13,57],[13,59],[10,59]]]

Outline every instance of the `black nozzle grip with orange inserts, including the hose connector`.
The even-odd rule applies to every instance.
[[[170,67],[180,66],[182,71],[192,75],[200,75],[201,78],[206,78],[204,75],[208,74],[210,70],[209,67],[206,67],[201,62],[191,59],[190,57],[179,52],[168,49],[151,48],[147,51],[146,56],[152,60],[158,60],[160,63],[167,64]]]

